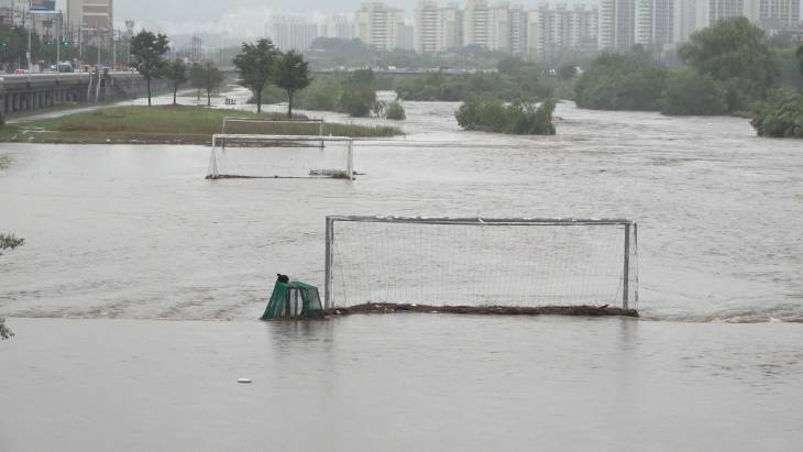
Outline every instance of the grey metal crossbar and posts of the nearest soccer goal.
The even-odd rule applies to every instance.
[[[362,223],[397,223],[397,224],[438,224],[464,227],[622,227],[624,229],[624,251],[622,262],[622,307],[630,308],[630,290],[638,305],[638,223],[617,218],[414,218],[414,217],[372,217],[372,216],[329,216],[326,219],[326,256],[324,256],[324,306],[333,308],[333,265],[336,222]],[[622,242],[620,242],[622,243]],[[631,262],[634,253],[635,262]],[[635,271],[631,271],[635,264]],[[634,286],[631,287],[631,277]]]

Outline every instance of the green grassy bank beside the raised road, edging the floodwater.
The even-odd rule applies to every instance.
[[[0,128],[0,141],[19,143],[208,144],[220,133],[224,117],[285,119],[200,107],[113,107],[57,119]],[[296,117],[298,119],[302,117]],[[317,135],[317,124],[235,124],[229,133]],[[391,126],[326,124],[326,135],[377,137],[400,135]]]

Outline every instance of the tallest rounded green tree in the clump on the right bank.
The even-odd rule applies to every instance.
[[[718,21],[692,34],[678,55],[698,73],[725,82],[732,111],[766,98],[779,70],[765,32],[744,16]]]

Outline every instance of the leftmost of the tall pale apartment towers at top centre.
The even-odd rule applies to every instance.
[[[405,12],[383,2],[363,3],[354,14],[354,31],[362,42],[380,51],[407,45]]]

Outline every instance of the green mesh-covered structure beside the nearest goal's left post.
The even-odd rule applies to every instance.
[[[262,320],[312,319],[323,317],[318,288],[306,283],[290,282],[279,275]]]

